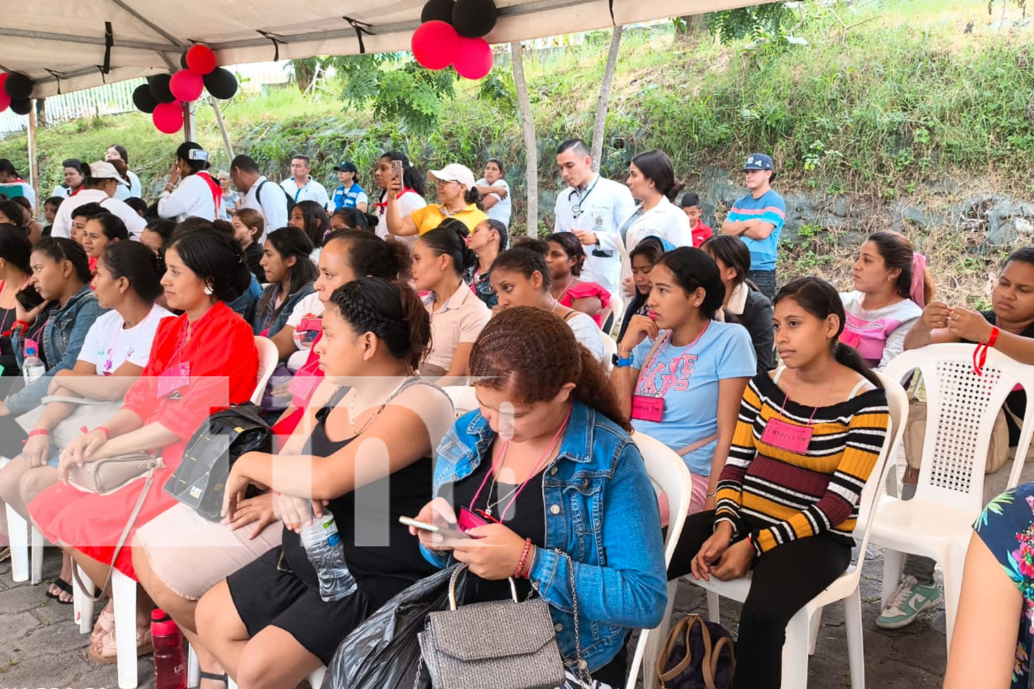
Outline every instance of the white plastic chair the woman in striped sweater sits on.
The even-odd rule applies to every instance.
[[[862,649],[862,626],[861,626],[861,594],[858,582],[861,577],[861,566],[865,560],[865,549],[869,544],[870,532],[872,530],[872,519],[870,514],[876,509],[879,501],[880,487],[884,484],[887,473],[893,467],[890,461],[892,450],[901,442],[905,424],[908,421],[908,396],[904,388],[887,375],[880,373],[880,381],[883,383],[887,395],[887,404],[890,412],[890,426],[887,435],[883,440],[883,447],[880,457],[877,459],[873,472],[865,481],[865,488],[861,492],[861,499],[858,504],[859,526],[862,528],[861,547],[858,550],[858,561],[851,564],[847,571],[830,584],[825,591],[813,598],[800,608],[790,620],[786,628],[786,641],[783,645],[783,689],[804,689],[808,686],[808,657],[815,653],[815,643],[818,637],[819,622],[821,620],[822,608],[825,605],[839,600],[844,601],[844,618],[847,628],[848,664],[851,674],[852,689],[864,689],[865,687],[865,661]],[[857,533],[857,530],[855,531]],[[720,582],[711,577],[710,582],[703,580],[687,580],[691,584],[707,590],[707,614],[708,617],[719,621],[719,596],[725,596],[737,601],[747,599],[747,594],[751,590],[751,574],[732,582]],[[672,582],[670,590],[674,590]],[[669,596],[668,609],[665,614],[665,622],[662,628],[667,630],[669,618],[671,617],[671,603],[674,594]],[[659,637],[663,634],[659,634]],[[658,652],[660,649],[658,649]],[[649,657],[652,664],[651,669],[657,664],[658,653]],[[651,672],[649,678],[644,678],[643,689],[656,689],[657,672]]]

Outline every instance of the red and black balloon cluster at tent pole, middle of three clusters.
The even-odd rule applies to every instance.
[[[180,57],[180,69],[174,74],[147,77],[132,92],[136,109],[149,113],[158,131],[175,134],[183,128],[183,103],[197,100],[208,89],[213,97],[225,100],[237,93],[234,72],[216,65],[215,53],[208,45],[194,45]]]

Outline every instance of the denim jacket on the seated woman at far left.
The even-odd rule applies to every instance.
[[[75,367],[75,359],[79,358],[79,350],[83,348],[87,332],[97,316],[105,311],[107,309],[101,309],[97,304],[97,296],[90,289],[90,285],[84,285],[65,302],[63,307],[44,312],[49,317],[47,324],[43,325],[43,340],[39,343],[39,347],[43,358],[47,359],[47,373],[7,398],[7,409],[12,415],[24,414],[38,405],[47,396],[47,388],[55,373]],[[43,314],[40,314],[40,317],[42,316]],[[18,365],[22,366],[25,358],[25,344],[22,342],[21,333],[11,334],[11,344],[18,356]]]

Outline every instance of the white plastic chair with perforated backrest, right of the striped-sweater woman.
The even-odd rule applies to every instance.
[[[906,553],[941,564],[945,641],[950,648],[966,549],[973,521],[983,507],[995,416],[1016,383],[1034,392],[1034,367],[991,349],[978,376],[973,371],[973,345],[940,344],[903,352],[887,366],[886,375],[903,380],[916,369],[926,389],[926,432],[915,497],[883,496],[873,543],[884,547],[883,605],[898,586]],[[1021,447],[1028,446],[1032,432],[1034,413],[1028,411],[1020,431]],[[1025,452],[1016,453],[1008,488],[1020,481],[1025,458]]]

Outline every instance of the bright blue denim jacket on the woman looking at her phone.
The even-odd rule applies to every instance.
[[[438,445],[434,495],[491,456],[495,433],[478,410],[461,416]],[[639,449],[625,431],[576,402],[557,458],[542,478],[546,542],[528,578],[546,602],[568,665],[577,665],[571,563],[581,655],[589,671],[617,655],[631,628],[656,627],[668,599],[657,496]],[[438,567],[452,558],[423,549]],[[569,560],[564,556],[571,556]]]

